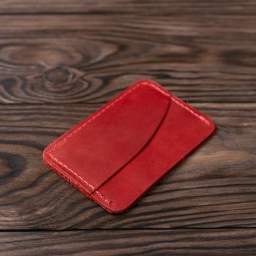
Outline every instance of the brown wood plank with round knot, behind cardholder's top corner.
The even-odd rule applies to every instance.
[[[190,102],[255,102],[255,23],[232,15],[2,15],[0,103],[105,102],[139,78]]]

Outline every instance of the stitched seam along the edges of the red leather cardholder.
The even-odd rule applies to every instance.
[[[112,203],[110,200],[108,200],[104,195],[102,195],[102,193],[100,193],[99,191],[97,191],[91,184],[89,184],[85,179],[83,179],[81,176],[79,176],[77,173],[75,173],[74,170],[70,169],[67,165],[65,165],[63,162],[59,161],[59,159],[57,159],[56,157],[53,157],[52,152],[56,150],[56,148],[58,148],[61,144],[64,144],[69,138],[72,137],[72,135],[75,135],[76,132],[80,131],[80,129],[83,129],[83,127],[86,127],[86,125],[90,124],[92,121],[94,121],[95,118],[99,117],[100,115],[102,115],[102,113],[104,113],[106,110],[108,110],[108,108],[112,107],[113,105],[116,105],[117,102],[119,102],[121,99],[123,99],[124,97],[126,97],[128,94],[130,94],[132,91],[135,91],[135,89],[138,89],[139,86],[150,86],[152,89],[156,89],[157,91],[159,91],[161,94],[163,94],[165,97],[167,96],[168,98],[170,98],[170,94],[168,94],[165,91],[162,91],[162,89],[159,88],[159,86],[156,86],[154,83],[150,83],[148,81],[146,82],[140,82],[137,85],[135,85],[134,87],[132,87],[131,89],[128,89],[127,92],[125,92],[124,94],[122,94],[120,97],[116,98],[113,100],[113,102],[111,102],[109,105],[107,105],[105,108],[103,107],[102,110],[99,110],[99,112],[92,116],[91,118],[89,118],[88,121],[86,121],[85,123],[83,123],[80,127],[78,127],[78,129],[75,129],[73,132],[69,133],[69,135],[67,135],[67,137],[65,137],[64,139],[60,140],[58,143],[56,143],[55,146],[53,146],[53,148],[50,149],[50,151],[48,151],[49,156],[54,159],[59,165],[61,165],[62,167],[64,167],[66,170],[69,170],[70,173],[72,173],[76,178],[78,178],[80,181],[83,181],[83,183],[85,183],[88,187],[90,187],[91,189],[93,189],[93,192],[96,192],[97,195],[99,195],[99,197],[102,198],[102,200],[104,200],[106,203],[108,203],[109,205]],[[209,121],[204,118],[203,116],[200,116],[199,114],[195,113],[195,111],[193,111],[192,109],[188,108],[186,105],[184,105],[182,102],[179,102],[178,99],[175,99],[174,97],[172,97],[172,100],[174,102],[176,102],[178,105],[181,106],[181,108],[186,109],[187,111],[189,111],[190,113],[192,113],[192,115],[196,116],[197,118],[199,118],[201,121],[205,122],[206,124],[209,125]]]

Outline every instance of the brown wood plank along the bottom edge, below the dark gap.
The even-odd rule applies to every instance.
[[[0,233],[0,255],[255,255],[256,230]]]

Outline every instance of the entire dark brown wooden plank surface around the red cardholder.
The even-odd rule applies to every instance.
[[[217,134],[113,216],[42,150],[140,78]],[[255,1],[0,1],[0,255],[256,255],[255,128]]]

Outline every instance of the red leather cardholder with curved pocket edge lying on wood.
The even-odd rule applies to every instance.
[[[126,211],[206,140],[208,116],[140,80],[45,148],[45,163],[111,214]]]

